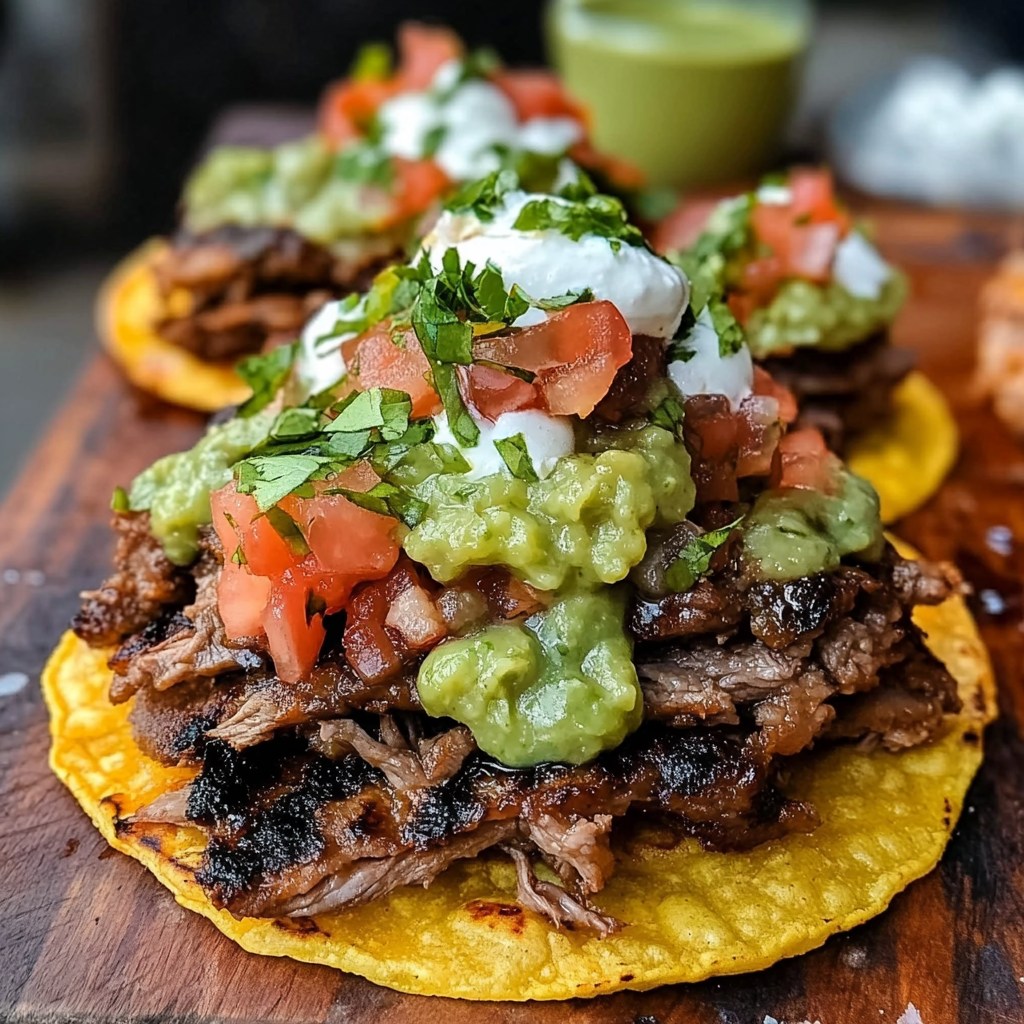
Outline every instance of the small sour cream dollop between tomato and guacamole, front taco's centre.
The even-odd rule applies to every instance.
[[[473,447],[465,447],[452,433],[447,415],[441,413],[434,417],[434,441],[452,444],[462,453],[469,463],[466,478],[470,480],[509,472],[505,460],[495,447],[495,441],[504,437],[522,434],[534,469],[542,479],[551,473],[559,459],[575,451],[572,425],[564,416],[550,416],[537,409],[525,409],[502,413],[494,423],[481,417],[474,416],[473,419],[479,427],[480,438]]]

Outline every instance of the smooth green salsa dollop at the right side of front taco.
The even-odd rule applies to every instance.
[[[859,476],[842,471],[837,494],[768,490],[743,519],[743,559],[763,580],[798,580],[839,568],[845,555],[870,560],[884,537],[879,496]]]

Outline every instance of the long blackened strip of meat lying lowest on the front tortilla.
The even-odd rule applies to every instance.
[[[603,885],[611,866],[602,816],[669,813],[682,833],[718,849],[814,823],[808,808],[774,792],[757,744],[723,730],[644,728],[579,768],[513,770],[473,754],[439,784],[409,792],[394,782],[400,777],[389,782],[360,757],[332,760],[287,737],[242,753],[210,743],[187,797],[189,819],[211,837],[201,883],[232,913],[316,913],[409,878],[428,881],[455,856],[536,823],[538,852],[571,868],[587,891]],[[583,818],[591,824],[574,825]],[[472,852],[460,853],[464,844]],[[438,851],[413,869],[413,854]],[[409,870],[389,873],[398,864]]]

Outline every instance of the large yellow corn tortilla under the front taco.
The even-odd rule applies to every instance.
[[[145,758],[128,708],[106,699],[102,652],[67,634],[43,674],[50,764],[112,846],[140,860],[184,907],[245,949],[325,964],[407,992],[469,999],[564,999],[645,989],[768,967],[821,945],[886,908],[942,855],[981,762],[994,716],[991,670],[959,598],[923,608],[929,643],[956,677],[964,711],[930,745],[902,754],[828,751],[795,773],[787,793],[822,817],[746,853],[694,842],[617,851],[598,905],[628,923],[606,939],[558,932],[515,904],[503,858],[459,861],[429,889],[314,921],[238,921],[215,909],[193,878],[198,830],[132,826],[119,817],[191,772]]]

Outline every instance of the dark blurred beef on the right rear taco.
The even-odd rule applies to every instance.
[[[817,427],[842,453],[851,437],[891,415],[893,391],[913,362],[912,352],[894,348],[882,333],[841,352],[798,348],[762,366],[796,395],[799,425]]]

